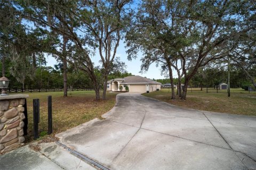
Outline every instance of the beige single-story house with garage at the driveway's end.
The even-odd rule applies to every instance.
[[[129,88],[129,92],[152,92],[161,89],[161,83],[143,78],[139,75],[129,76],[125,78],[116,78],[109,80],[107,91],[121,91],[119,86],[122,86],[122,91],[126,91],[125,87]]]

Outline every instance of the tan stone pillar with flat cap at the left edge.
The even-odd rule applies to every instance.
[[[25,98],[28,95],[0,96],[0,153],[24,145]]]

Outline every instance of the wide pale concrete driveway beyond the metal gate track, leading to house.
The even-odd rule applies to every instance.
[[[57,136],[109,169],[256,169],[256,116],[125,93],[103,117]]]

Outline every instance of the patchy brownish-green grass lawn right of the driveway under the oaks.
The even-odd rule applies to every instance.
[[[249,91],[243,89],[230,89],[230,97],[228,97],[227,90],[218,90],[217,93],[215,89],[208,89],[209,93],[206,93],[206,89],[201,91],[199,88],[193,88],[192,92],[191,89],[188,89],[187,100],[172,100],[170,91],[171,89],[161,89],[161,91],[142,95],[202,111],[256,116],[255,91],[251,91],[249,94]]]

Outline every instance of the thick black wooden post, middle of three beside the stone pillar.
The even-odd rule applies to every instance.
[[[34,120],[34,139],[39,138],[39,99],[33,99],[33,120]]]

